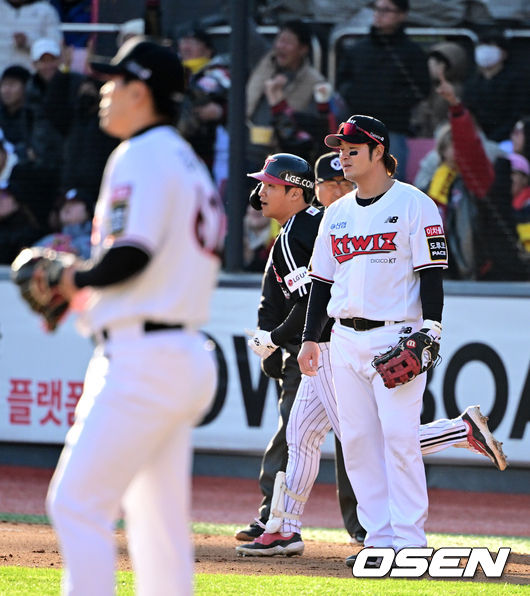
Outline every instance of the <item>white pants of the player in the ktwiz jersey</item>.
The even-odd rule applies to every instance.
[[[428,513],[418,441],[427,377],[387,389],[371,365],[375,354],[396,344],[400,326],[355,331],[336,323],[331,335],[344,463],[367,531],[365,545],[396,550],[427,544]]]

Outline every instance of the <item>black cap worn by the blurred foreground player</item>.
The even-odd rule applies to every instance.
[[[108,62],[91,62],[96,72],[122,74],[143,81],[158,97],[182,101],[186,77],[180,58],[172,49],[142,36],[128,39]]]

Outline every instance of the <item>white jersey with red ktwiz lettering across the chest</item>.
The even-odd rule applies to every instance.
[[[407,321],[421,318],[420,277],[427,267],[447,268],[447,247],[434,201],[395,181],[373,205],[356,191],[324,215],[310,276],[333,284],[328,315]]]

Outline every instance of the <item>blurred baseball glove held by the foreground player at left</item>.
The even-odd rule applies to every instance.
[[[75,255],[33,246],[22,250],[11,264],[11,279],[31,310],[41,315],[47,331],[55,331],[68,310],[69,302],[57,289],[64,269]]]

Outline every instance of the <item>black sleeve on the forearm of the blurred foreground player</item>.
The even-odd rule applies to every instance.
[[[78,288],[110,286],[139,273],[150,258],[148,253],[136,246],[111,248],[95,265],[87,261],[88,268],[75,273],[74,283]]]

